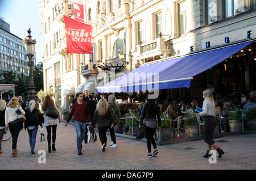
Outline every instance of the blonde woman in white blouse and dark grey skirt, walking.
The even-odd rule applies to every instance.
[[[225,154],[222,149],[218,147],[218,145],[213,140],[213,132],[216,127],[216,118],[215,118],[215,103],[213,99],[212,92],[210,90],[203,91],[203,111],[199,112],[200,116],[204,116],[204,142],[207,143],[207,153],[203,155],[204,158],[209,158],[211,154],[209,151],[212,149],[216,149],[218,151],[218,158],[222,157],[222,154]]]

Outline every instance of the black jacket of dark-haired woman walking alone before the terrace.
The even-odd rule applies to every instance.
[[[146,103],[147,104],[147,103]],[[146,108],[146,104],[143,105],[142,113],[141,113],[141,125],[143,123],[144,119],[155,119],[158,120],[158,127],[161,127],[161,113],[160,113],[160,107],[155,104],[155,113],[150,112]]]

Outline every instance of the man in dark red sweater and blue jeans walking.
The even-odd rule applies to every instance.
[[[78,154],[81,155],[82,149],[82,140],[85,138],[86,133],[86,124],[92,124],[90,121],[90,112],[88,104],[82,99],[82,92],[76,94],[77,102],[72,105],[72,109],[68,115],[67,123],[65,127],[67,127],[68,122],[71,120],[73,113],[75,112],[75,128],[76,128],[76,143]]]

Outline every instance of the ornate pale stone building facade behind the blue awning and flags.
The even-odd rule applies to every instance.
[[[70,54],[63,15],[74,15],[73,1],[42,0],[44,88],[53,89],[59,106],[65,107],[77,87],[88,83],[99,87],[143,64],[254,40],[255,4],[254,0],[85,0],[84,23],[92,25],[93,54]],[[193,77],[190,87],[160,90],[161,99],[201,101],[205,89],[212,90],[216,99],[255,96],[254,72],[255,43],[251,43]]]

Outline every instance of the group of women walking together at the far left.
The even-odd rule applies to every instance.
[[[46,127],[47,129],[47,142],[48,142],[48,151],[49,153],[53,150],[55,151],[55,140],[56,140],[56,129],[57,123],[61,121],[60,113],[59,117],[53,118],[46,115],[46,110],[48,107],[54,107],[57,112],[59,110],[56,107],[56,104],[53,102],[51,96],[47,95],[44,98],[42,110],[43,115],[39,111],[39,108],[35,102],[35,100],[30,100],[28,106],[23,103],[21,96],[19,98],[13,97],[11,98],[9,104],[6,106],[5,100],[0,100],[0,153],[2,153],[1,141],[3,138],[3,134],[6,131],[10,131],[12,136],[12,152],[11,157],[16,157],[18,153],[17,141],[19,132],[21,129],[25,129],[28,132],[29,143],[31,154],[35,154],[35,144],[36,144],[36,134],[38,132],[38,126],[41,128]],[[26,120],[20,121],[18,118],[19,112],[26,117]],[[51,146],[52,140],[52,146]]]

